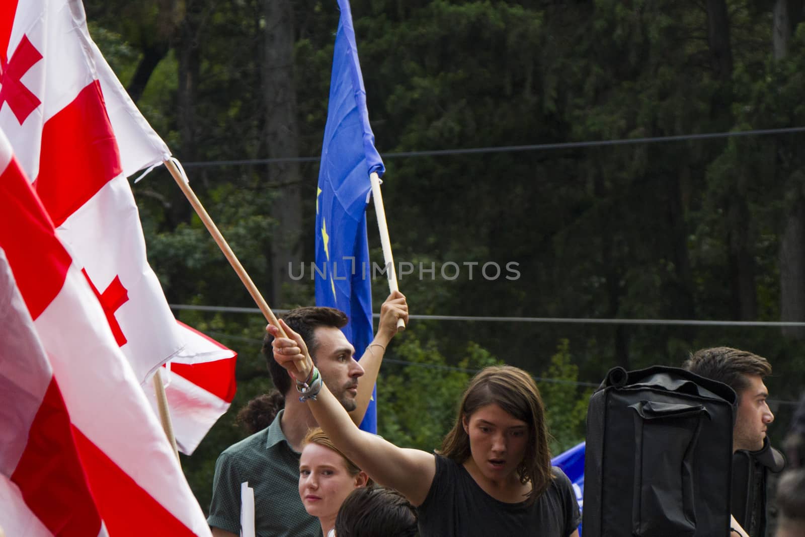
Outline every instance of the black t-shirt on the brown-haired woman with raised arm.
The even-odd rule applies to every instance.
[[[568,537],[581,517],[573,487],[561,469],[537,500],[506,503],[486,494],[463,465],[436,455],[436,475],[419,511],[422,537]]]

